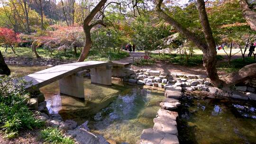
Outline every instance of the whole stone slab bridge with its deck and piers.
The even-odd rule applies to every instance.
[[[112,75],[121,77],[129,73],[123,72],[128,65],[129,63],[101,61],[67,63],[28,74],[23,79],[30,82],[26,86],[27,90],[38,90],[54,81],[59,81],[60,93],[84,98],[83,76],[85,76],[86,70],[91,70],[92,83],[111,85]]]

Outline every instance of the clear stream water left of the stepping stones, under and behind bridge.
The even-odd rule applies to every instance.
[[[10,68],[18,70],[20,75],[35,69]],[[91,80],[85,78],[85,100],[60,94],[58,85],[56,81],[40,89],[50,113],[59,113],[64,120],[73,119],[78,124],[88,120],[92,133],[101,134],[118,144],[135,144],[143,129],[153,127],[159,103],[165,98],[163,92],[127,85],[119,79],[112,80],[112,86],[104,86],[91,84]]]

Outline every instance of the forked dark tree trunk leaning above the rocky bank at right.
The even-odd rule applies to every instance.
[[[179,22],[177,22],[174,18],[167,15],[162,9],[161,4],[163,0],[159,0],[156,6],[156,11],[158,15],[165,19],[166,22],[175,27],[181,34],[186,36],[190,41],[192,41],[196,46],[198,46],[203,52],[203,66],[206,69],[207,75],[212,81],[213,85],[216,87],[222,86],[222,81],[219,80],[219,76],[217,74],[216,69],[216,49],[215,42],[211,33],[210,24],[208,21],[207,13],[205,11],[204,0],[197,0],[198,10],[200,14],[200,21],[203,27],[203,32],[205,35],[206,43],[201,41],[201,38],[196,36],[194,33],[189,31],[187,28],[183,27]]]

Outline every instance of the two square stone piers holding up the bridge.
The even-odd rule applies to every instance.
[[[112,65],[91,68],[91,83],[111,85]],[[84,99],[83,77],[86,71],[80,71],[59,80],[60,93]]]

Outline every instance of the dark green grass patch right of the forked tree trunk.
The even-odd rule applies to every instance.
[[[254,60],[253,57],[245,57],[245,61],[243,61],[243,58],[238,58],[232,60],[230,64],[228,62],[220,63],[218,69],[225,72],[236,72],[242,67],[252,63],[256,63],[256,60]]]

